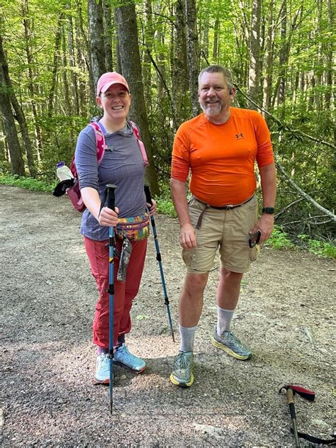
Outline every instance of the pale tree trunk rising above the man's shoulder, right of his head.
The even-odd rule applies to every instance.
[[[252,23],[250,29],[250,70],[249,70],[249,96],[257,103],[260,100],[260,16],[262,0],[252,0]],[[255,106],[250,103],[250,108]]]

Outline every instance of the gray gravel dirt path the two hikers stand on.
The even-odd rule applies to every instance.
[[[335,262],[264,248],[245,276],[233,322],[253,349],[248,362],[209,342],[214,271],[196,334],[196,381],[184,390],[168,378],[179,345],[169,335],[151,237],[128,337],[147,370],[133,376],[116,366],[111,418],[108,388],[91,382],[96,290],[79,214],[67,198],[49,194],[0,186],[0,198],[4,447],[291,447],[286,399],[278,393],[284,383],[316,393],[313,403],[297,398],[298,429],[330,437]],[[156,221],[176,327],[184,275],[178,224],[163,215]]]

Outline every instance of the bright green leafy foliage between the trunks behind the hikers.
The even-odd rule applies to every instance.
[[[125,1],[107,3],[113,9]],[[182,26],[181,39],[178,39],[178,19],[181,19],[176,14],[178,3],[135,1],[152,155],[164,192],[158,199],[158,211],[173,216],[174,207],[167,188],[174,134],[176,128],[192,116],[189,72],[185,67],[187,55],[181,40],[187,31],[187,23]],[[293,0],[287,3],[284,14],[282,1],[262,2],[260,84],[266,85],[267,34],[270,29],[273,60],[268,107],[269,112],[283,122],[279,125],[278,121],[267,118],[274,150],[281,166],[301,189],[323,207],[335,210],[335,150],[303,135],[306,133],[327,142],[335,139],[335,96],[332,96],[331,80],[333,34],[328,4],[330,2]],[[244,94],[249,89],[250,79],[251,48],[247,24],[252,21],[251,2],[198,0],[196,9],[199,67],[208,63],[228,67],[242,90],[236,96],[235,106],[250,107]],[[56,179],[57,162],[64,160],[69,164],[79,131],[91,116],[96,115],[86,65],[91,59],[90,45],[87,45],[88,3],[84,0],[3,0],[1,17],[1,35],[9,62],[12,91],[26,117],[37,179],[44,179],[50,185]],[[286,36],[281,33],[280,23],[276,22],[279,17],[286,21]],[[113,18],[112,28],[114,33],[116,23]],[[62,45],[58,47],[57,33],[61,33],[62,38]],[[118,69],[117,42],[115,34],[111,42],[113,69]],[[279,60],[284,44],[288,59],[282,64]],[[185,63],[181,65],[181,61]],[[279,101],[277,95],[281,77],[285,78],[284,102]],[[262,102],[261,98],[256,100]],[[28,173],[25,145],[18,124],[17,130]],[[3,174],[11,173],[9,160],[9,148],[0,123],[0,172]],[[276,223],[282,226],[283,232],[286,230],[287,237],[280,230],[279,233],[275,231],[272,238],[276,246],[287,247],[286,239],[294,240],[294,235],[298,234],[321,241],[332,237],[332,223],[321,217],[308,201],[298,202],[298,199],[298,193],[279,175],[276,211],[284,210],[284,213],[279,214]],[[292,203],[295,205],[291,206]],[[303,244],[303,240],[300,242]],[[304,242],[308,245],[306,240]],[[328,252],[321,247],[310,249]]]

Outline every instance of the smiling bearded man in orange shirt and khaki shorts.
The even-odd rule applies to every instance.
[[[172,200],[181,227],[179,241],[186,278],[179,300],[181,346],[170,380],[181,387],[194,382],[194,335],[203,308],[203,292],[215,254],[220,254],[216,301],[218,322],[212,343],[236,359],[252,356],[230,330],[242,276],[257,259],[249,237],[259,243],[274,225],[276,169],[269,129],[257,111],[234,108],[235,87],[228,69],[211,65],[198,77],[203,113],[179,127],[172,152]],[[257,161],[262,187],[262,215],[255,196]],[[186,179],[191,174],[191,199]]]

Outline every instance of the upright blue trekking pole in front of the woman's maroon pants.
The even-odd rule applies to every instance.
[[[107,184],[107,206],[114,211],[115,198],[114,190],[116,185]],[[108,293],[109,293],[109,330],[108,330],[108,359],[110,360],[110,413],[113,410],[113,296],[114,296],[114,281],[113,281],[113,257],[114,257],[114,228],[111,226],[108,229]]]

